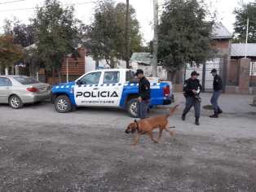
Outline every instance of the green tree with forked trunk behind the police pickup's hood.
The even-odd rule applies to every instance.
[[[46,70],[52,72],[55,83],[55,71],[61,79],[65,55],[72,53],[77,56],[81,21],[74,18],[73,7],[61,7],[57,0],[46,0],[42,7],[38,7],[33,24],[39,57]]]

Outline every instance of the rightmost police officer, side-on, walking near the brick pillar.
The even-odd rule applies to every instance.
[[[212,74],[212,76],[214,76],[214,84],[213,84],[214,93],[213,93],[212,97],[210,98],[210,103],[212,104],[212,106],[214,108],[214,115],[212,115],[210,117],[218,118],[218,114],[223,113],[223,111],[218,106],[218,98],[219,98],[220,94],[222,93],[223,81],[220,78],[220,76],[218,76],[217,70],[215,68],[213,70],[211,70],[210,73]]]

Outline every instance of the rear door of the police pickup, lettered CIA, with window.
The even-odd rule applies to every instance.
[[[104,72],[103,84],[99,86],[99,103],[105,107],[119,107],[122,88],[119,71]]]

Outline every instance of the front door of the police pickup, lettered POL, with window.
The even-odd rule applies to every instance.
[[[99,81],[102,72],[90,72],[82,76],[74,87],[77,106],[99,106]]]

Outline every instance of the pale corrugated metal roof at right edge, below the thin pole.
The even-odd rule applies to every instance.
[[[232,57],[245,56],[245,43],[233,43],[231,45],[231,56]],[[247,56],[256,57],[256,43],[248,43]]]

